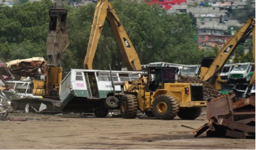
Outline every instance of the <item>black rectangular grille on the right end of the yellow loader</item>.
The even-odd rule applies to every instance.
[[[203,100],[203,85],[190,85],[191,100],[202,101]]]

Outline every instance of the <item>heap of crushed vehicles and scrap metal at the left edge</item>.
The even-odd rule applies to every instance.
[[[27,108],[29,112],[40,112],[40,107],[44,105],[47,105],[47,110],[57,110],[60,102],[42,99],[42,96],[32,93],[33,78],[46,74],[46,66],[47,61],[42,57],[1,62],[0,111],[25,110]]]

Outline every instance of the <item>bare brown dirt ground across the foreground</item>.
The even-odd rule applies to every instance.
[[[208,122],[205,109],[192,121],[36,113],[8,117],[12,121],[0,121],[0,149],[255,149],[255,139],[210,138],[205,133],[194,138],[194,130],[181,125],[201,127]]]

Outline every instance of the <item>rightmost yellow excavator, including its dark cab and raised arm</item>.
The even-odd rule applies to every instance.
[[[221,89],[220,82],[220,71],[225,65],[229,57],[234,52],[235,48],[241,43],[244,42],[248,35],[253,34],[253,52],[255,57],[255,18],[249,18],[244,25],[238,29],[238,31],[233,35],[231,40],[225,44],[214,59],[203,59],[201,64],[201,80],[205,80],[216,89]],[[212,62],[211,62],[212,61]],[[255,81],[255,70],[250,81],[250,85]]]

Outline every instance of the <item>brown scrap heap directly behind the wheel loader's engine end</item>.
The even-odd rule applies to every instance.
[[[216,97],[220,97],[223,95],[214,88],[213,85],[209,84],[209,82],[205,82],[204,80],[200,80],[200,78],[191,78],[189,76],[179,76],[178,82],[189,82],[189,83],[203,83],[203,93],[205,100],[212,100]]]

